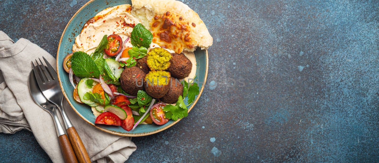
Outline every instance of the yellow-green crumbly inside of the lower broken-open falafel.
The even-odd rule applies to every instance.
[[[167,85],[168,79],[170,79],[171,75],[167,71],[150,71],[148,74],[146,74],[145,82],[148,85]]]

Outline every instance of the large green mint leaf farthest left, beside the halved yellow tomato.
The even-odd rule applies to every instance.
[[[100,75],[100,71],[92,58],[83,51],[72,54],[71,68],[78,77],[93,78]]]

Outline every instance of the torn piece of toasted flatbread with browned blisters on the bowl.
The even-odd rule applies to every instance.
[[[176,53],[207,49],[213,43],[199,15],[176,0],[132,0],[132,15],[152,31],[153,43]]]

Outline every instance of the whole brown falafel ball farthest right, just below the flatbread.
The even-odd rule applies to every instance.
[[[168,71],[171,76],[178,79],[183,79],[191,73],[192,62],[183,54],[171,53],[170,67]]]

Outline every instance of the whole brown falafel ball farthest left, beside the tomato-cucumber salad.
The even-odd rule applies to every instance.
[[[121,73],[121,88],[130,95],[137,95],[138,90],[144,90],[143,80],[146,74],[141,68],[129,67],[125,68]]]

